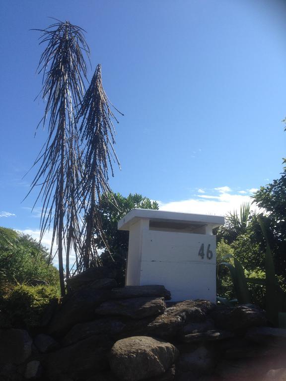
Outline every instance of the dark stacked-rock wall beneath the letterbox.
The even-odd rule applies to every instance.
[[[256,306],[170,303],[164,286],[112,276],[71,278],[38,332],[0,329],[0,381],[286,380],[286,330]]]

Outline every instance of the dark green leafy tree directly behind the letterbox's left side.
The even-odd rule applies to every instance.
[[[134,208],[158,210],[159,205],[157,201],[152,201],[138,193],[130,193],[127,197],[120,193],[103,194],[100,199],[98,212],[112,258],[105,249],[100,232],[95,230],[96,246],[98,249],[105,249],[100,256],[102,264],[116,268],[119,285],[124,285],[129,232],[117,230],[117,223]]]

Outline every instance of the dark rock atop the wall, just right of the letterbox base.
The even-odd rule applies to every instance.
[[[265,312],[253,304],[216,309],[212,317],[217,327],[228,330],[245,330],[266,324]]]

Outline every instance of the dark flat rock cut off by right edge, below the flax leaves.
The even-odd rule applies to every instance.
[[[246,338],[258,344],[286,346],[286,329],[271,327],[251,328],[247,331]]]

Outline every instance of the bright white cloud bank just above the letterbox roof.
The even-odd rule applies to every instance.
[[[252,203],[253,199],[249,195],[229,193],[229,187],[215,188],[217,195],[194,195],[186,200],[170,202],[159,202],[160,210],[174,212],[186,212],[195,214],[213,214],[224,216],[233,210],[239,210],[241,204]],[[199,198],[198,198],[199,197]],[[258,210],[256,204],[251,204],[251,210]]]

